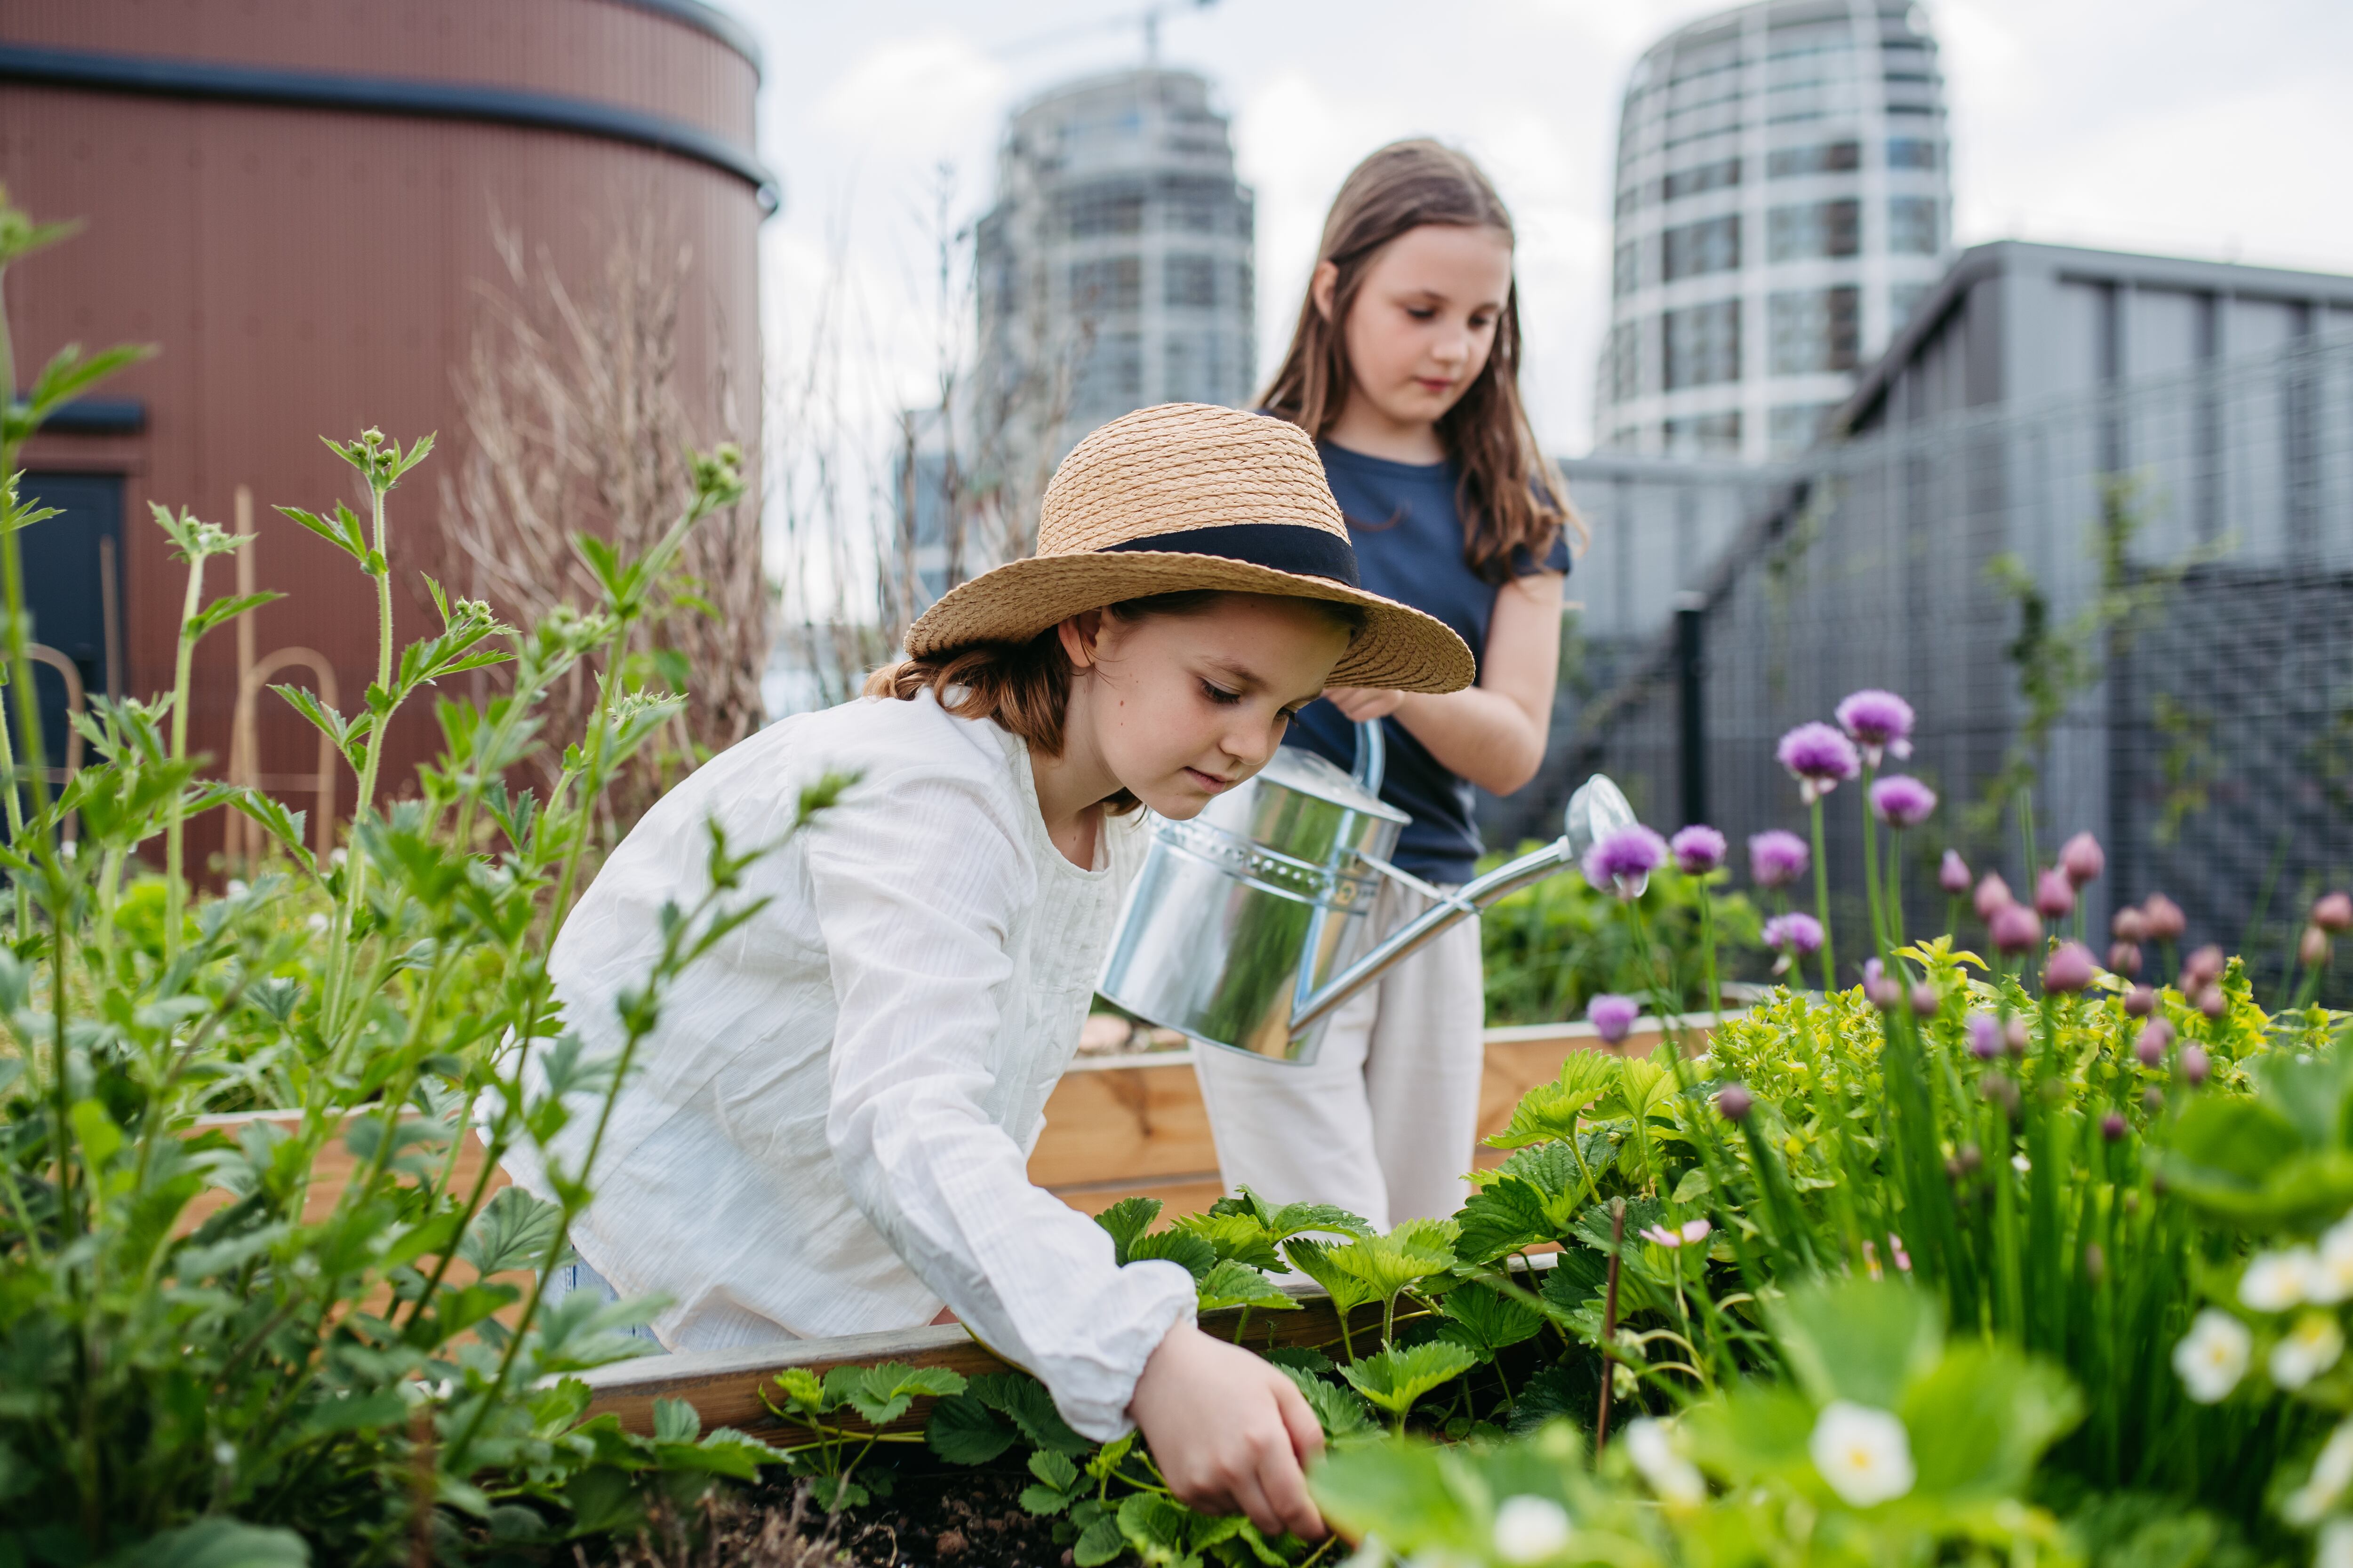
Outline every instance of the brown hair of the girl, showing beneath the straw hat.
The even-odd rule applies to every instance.
[[[1184,588],[1179,592],[1155,592],[1144,599],[1106,604],[1104,614],[1115,621],[1198,616],[1226,597],[1231,595],[1221,588]],[[1365,630],[1365,611],[1355,604],[1308,597],[1299,597],[1297,602],[1322,611],[1351,637]],[[1028,642],[969,642],[960,649],[882,665],[866,677],[864,696],[889,696],[913,703],[929,691],[955,717],[995,719],[1047,757],[1061,757],[1064,719],[1071,710],[1071,675],[1073,665],[1061,646],[1061,628],[1049,625]],[[1106,802],[1113,816],[1134,811],[1136,804],[1136,797],[1127,790]]]

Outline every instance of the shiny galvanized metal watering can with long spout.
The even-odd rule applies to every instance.
[[[1635,820],[1619,788],[1595,773],[1569,797],[1558,839],[1442,893],[1388,863],[1407,816],[1381,802],[1384,764],[1381,726],[1358,724],[1353,776],[1285,745],[1193,820],[1162,820],[1096,992],[1195,1041],[1313,1063],[1341,1001]],[[1381,877],[1433,903],[1372,947]]]

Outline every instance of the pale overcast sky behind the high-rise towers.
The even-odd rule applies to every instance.
[[[951,226],[988,207],[1005,113],[1144,56],[1125,0],[725,0],[760,35],[772,367],[826,357],[852,425],[932,400]],[[1325,207],[1384,141],[1468,148],[1520,228],[1529,404],[1591,442],[1609,165],[1633,59],[1706,0],[1219,0],[1167,7],[1259,200],[1259,374],[1299,308]],[[1929,0],[1953,108],[1955,237],[2061,240],[2353,270],[2348,0]],[[831,301],[831,308],[826,308]],[[960,310],[955,315],[962,315]],[[819,324],[835,334],[816,348]],[[774,433],[772,433],[774,435]]]

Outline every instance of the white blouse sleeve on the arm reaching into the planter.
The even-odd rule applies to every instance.
[[[807,837],[838,1001],[826,1140],[852,1201],[906,1265],[1106,1441],[1160,1338],[1193,1309],[1174,1262],[1113,1262],[1111,1237],[1028,1180],[986,1114],[1012,976],[1014,900],[1035,891],[1021,823],[976,778],[852,788]]]

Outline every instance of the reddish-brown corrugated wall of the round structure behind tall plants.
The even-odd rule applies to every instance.
[[[621,0],[9,0],[9,45],[515,87],[753,150],[755,66],[711,31]],[[722,378],[741,418],[760,407],[762,207],[751,181],[706,160],[579,132],[0,80],[0,181],[40,219],[85,221],[9,273],[19,364],[68,341],[160,348],[101,393],[139,400],[144,433],[42,435],[26,451],[33,470],[125,475],[129,693],[172,682],[184,583],[146,503],[226,524],[247,484],[256,585],[292,595],[256,611],[259,651],[325,651],[344,710],[358,708],[374,675],[369,585],[268,508],[358,501],[318,437],[362,425],[400,440],[440,433],[435,458],[391,501],[398,635],[426,630],[416,574],[445,564],[435,470],[464,447],[452,374],[480,320],[480,284],[506,287],[494,216],[586,284],[616,226],[656,214],[694,256],[678,336],[689,416],[718,430]],[[758,433],[736,435],[751,447]],[[207,585],[226,592],[231,567],[212,574]],[[449,585],[464,590],[461,569]],[[233,701],[235,642],[221,630],[198,651],[191,705],[191,743],[216,759]],[[421,708],[386,755],[395,795],[431,750]],[[313,733],[278,698],[261,705],[259,741],[266,773],[311,769]],[[311,806],[299,795],[287,804]],[[198,846],[216,844],[207,823]]]

